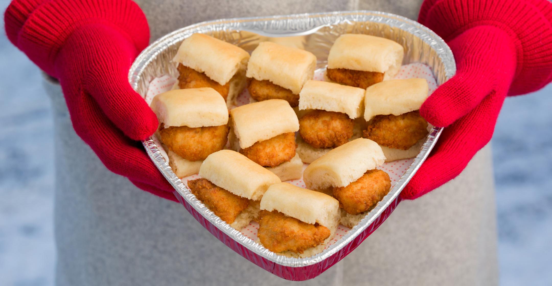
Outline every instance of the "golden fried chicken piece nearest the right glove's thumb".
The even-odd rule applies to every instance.
[[[375,116],[362,137],[389,148],[408,150],[427,133],[427,121],[416,110],[399,116]]]

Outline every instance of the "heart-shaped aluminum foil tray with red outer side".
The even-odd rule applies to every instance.
[[[207,21],[176,30],[153,42],[136,58],[130,68],[129,82],[145,96],[148,85],[165,74],[177,77],[173,56],[181,42],[193,33],[204,33],[251,52],[262,41],[285,42],[304,48],[317,57],[317,68],[324,68],[330,47],[345,33],[369,34],[399,42],[405,48],[403,64],[420,62],[431,67],[437,84],[452,77],[456,71],[450,48],[433,31],[410,19],[383,12],[354,11],[317,14],[296,14],[259,18],[236,18]],[[211,234],[255,265],[289,280],[314,278],[353,251],[378,228],[400,202],[399,194],[420,168],[437,142],[442,128],[433,128],[420,154],[378,206],[339,241],[323,252],[308,258],[277,255],[247,238],[226,224],[198,201],[178,179],[151,138],[143,144],[157,168],[175,188],[183,206]]]

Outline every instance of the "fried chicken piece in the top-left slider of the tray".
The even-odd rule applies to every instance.
[[[230,82],[225,85],[220,85],[213,79],[210,79],[205,73],[184,66],[182,63],[178,64],[178,73],[180,73],[178,76],[179,88],[213,88],[218,91],[220,95],[222,95],[222,98],[224,98],[224,101],[226,101],[228,92],[230,91]]]

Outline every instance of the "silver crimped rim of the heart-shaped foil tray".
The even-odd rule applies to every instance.
[[[274,23],[281,23],[282,21],[287,21],[288,24],[294,21],[297,22],[300,27],[297,31],[289,30],[256,30],[251,29],[246,24],[262,24],[267,23],[267,21],[272,21]],[[257,33],[259,35],[269,35],[269,36],[291,36],[291,35],[305,35],[311,34],[322,26],[338,24],[343,22],[357,22],[357,21],[371,21],[374,23],[387,24],[394,28],[399,28],[406,31],[407,33],[413,34],[422,41],[426,42],[427,45],[433,48],[436,51],[437,56],[440,58],[444,66],[445,81],[451,78],[456,72],[454,56],[450,48],[445,44],[443,39],[441,39],[433,31],[429,30],[425,26],[417,23],[416,21],[410,20],[408,18],[391,14],[385,12],[376,12],[369,10],[360,10],[360,11],[345,11],[345,12],[331,12],[331,13],[306,13],[306,14],[294,14],[294,15],[278,15],[273,17],[251,17],[251,18],[234,18],[234,19],[221,19],[215,21],[204,21],[198,24],[190,25],[182,29],[173,31],[172,33],[167,34],[166,36],[161,37],[160,39],[153,42],[148,46],[140,55],[136,58],[132,64],[129,71],[129,82],[133,89],[137,90],[138,84],[140,82],[141,73],[144,71],[144,68],[151,63],[153,58],[155,58],[158,53],[166,50],[169,46],[176,44],[177,42],[183,40],[185,37],[193,33],[205,33],[206,31],[216,31],[216,30],[247,30]],[[438,82],[442,84],[442,82]],[[216,226],[220,231],[230,236],[230,238],[236,240],[241,245],[246,247],[248,250],[256,253],[257,255],[266,258],[269,261],[278,263],[282,266],[288,267],[305,267],[314,265],[325,260],[328,257],[334,255],[337,251],[341,250],[344,246],[352,242],[358,235],[360,235],[365,229],[367,229],[376,219],[379,218],[381,213],[390,206],[392,202],[395,201],[397,196],[399,196],[402,189],[406,186],[406,183],[410,181],[412,176],[416,173],[418,168],[420,168],[421,163],[428,157],[429,152],[434,147],[437,142],[440,133],[443,128],[433,128],[428,135],[426,142],[423,144],[420,154],[415,158],[413,163],[408,167],[405,174],[396,182],[394,188],[384,197],[384,199],[372,210],[370,213],[360,221],[360,223],[351,230],[348,231],[338,242],[328,247],[323,252],[306,258],[291,258],[285,257],[282,255],[277,255],[276,253],[269,251],[264,248],[262,245],[257,244],[253,240],[247,238],[245,235],[241,234],[240,231],[233,229],[229,224],[226,224],[219,217],[217,217],[213,212],[209,211],[203,203],[198,201],[195,196],[190,193],[188,188],[183,184],[183,182],[178,179],[174,174],[172,169],[169,167],[168,163],[163,159],[161,153],[159,152],[157,145],[153,142],[151,138],[146,139],[144,142],[144,147],[150,158],[156,164],[157,168],[160,169],[162,174],[167,178],[167,180],[174,186],[176,191],[187,201],[190,206],[192,206],[198,213],[203,215],[211,224]]]

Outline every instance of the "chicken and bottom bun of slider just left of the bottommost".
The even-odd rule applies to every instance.
[[[237,230],[258,217],[258,202],[234,195],[207,179],[189,180],[187,184],[199,201]]]

